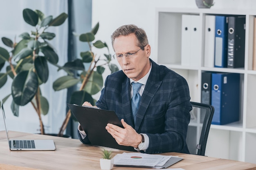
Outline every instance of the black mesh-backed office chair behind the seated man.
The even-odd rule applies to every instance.
[[[191,105],[186,143],[191,154],[204,156],[214,107],[198,102],[191,102]]]

